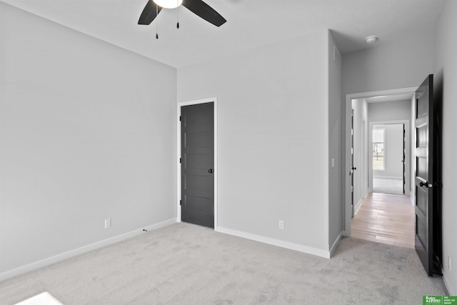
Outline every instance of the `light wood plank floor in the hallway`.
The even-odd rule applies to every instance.
[[[414,215],[410,197],[370,193],[352,219],[351,236],[414,249]]]

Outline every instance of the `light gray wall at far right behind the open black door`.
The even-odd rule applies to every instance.
[[[443,274],[451,295],[457,295],[457,1],[447,0],[436,26],[434,91],[441,101],[443,182]],[[448,266],[451,257],[451,269]]]

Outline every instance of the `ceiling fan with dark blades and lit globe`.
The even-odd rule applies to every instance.
[[[161,9],[175,9],[181,6],[181,4],[215,26],[221,26],[226,22],[223,16],[201,0],[148,0],[141,13],[138,24],[151,24]],[[176,26],[179,28],[179,23]]]

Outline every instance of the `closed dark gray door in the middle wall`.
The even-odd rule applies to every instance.
[[[214,103],[181,107],[181,221],[214,228]]]

